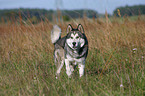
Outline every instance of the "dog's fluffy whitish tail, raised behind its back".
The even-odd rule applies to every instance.
[[[61,29],[57,25],[54,25],[51,31],[51,42],[54,44],[60,38],[61,38]]]

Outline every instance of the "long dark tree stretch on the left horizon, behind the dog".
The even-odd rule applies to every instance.
[[[1,21],[23,19],[25,21],[30,20],[32,23],[37,23],[41,20],[52,21],[53,17],[63,18],[65,21],[69,21],[71,18],[82,18],[86,14],[88,18],[97,16],[97,12],[94,10],[46,10],[46,9],[5,9],[0,10]]]

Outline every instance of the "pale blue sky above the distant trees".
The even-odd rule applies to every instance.
[[[41,9],[92,9],[109,14],[117,7],[145,5],[145,0],[0,0],[0,9],[41,8]]]

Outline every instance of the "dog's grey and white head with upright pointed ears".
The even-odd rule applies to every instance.
[[[74,29],[70,24],[67,27],[67,45],[73,50],[79,50],[85,44],[84,29],[81,24]]]

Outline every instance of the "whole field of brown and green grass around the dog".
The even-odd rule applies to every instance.
[[[78,19],[89,41],[85,75],[55,79],[53,22],[0,24],[0,96],[145,96],[145,16]]]

